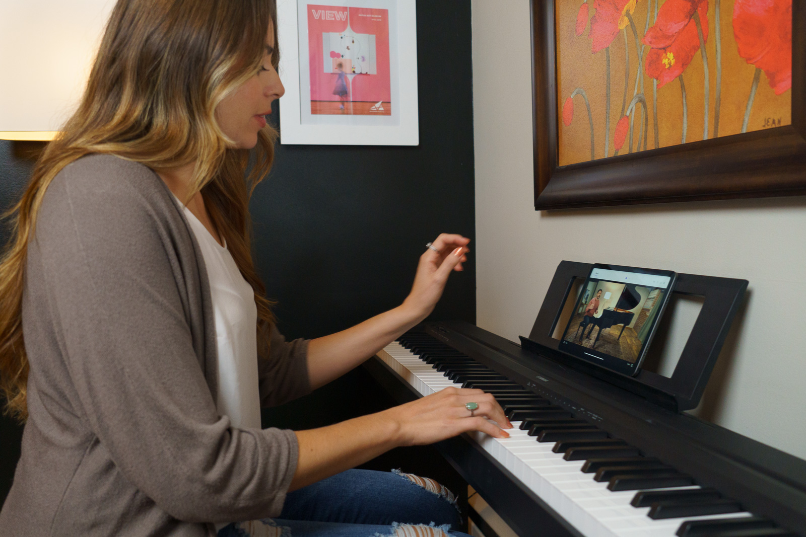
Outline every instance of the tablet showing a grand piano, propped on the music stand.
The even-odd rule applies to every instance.
[[[617,373],[638,374],[676,273],[634,266],[592,266],[559,350]]]

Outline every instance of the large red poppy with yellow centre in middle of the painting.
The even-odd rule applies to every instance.
[[[700,14],[703,39],[708,43],[708,0],[667,0],[644,35],[643,43],[651,47],[644,63],[646,76],[656,79],[659,88],[680,76],[700,50],[695,13]]]

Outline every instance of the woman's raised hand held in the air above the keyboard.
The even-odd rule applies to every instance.
[[[451,271],[462,271],[462,263],[467,261],[465,254],[469,238],[451,233],[442,233],[431,243],[434,250],[427,248],[420,256],[417,275],[409,296],[403,306],[414,312],[421,320],[434,310],[442,291],[445,289]]]

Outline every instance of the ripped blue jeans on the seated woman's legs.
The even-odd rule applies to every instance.
[[[468,537],[451,492],[411,474],[352,469],[289,493],[277,518],[218,537]]]

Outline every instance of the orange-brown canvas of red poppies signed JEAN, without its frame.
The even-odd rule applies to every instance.
[[[791,125],[792,0],[548,1],[559,166]]]

